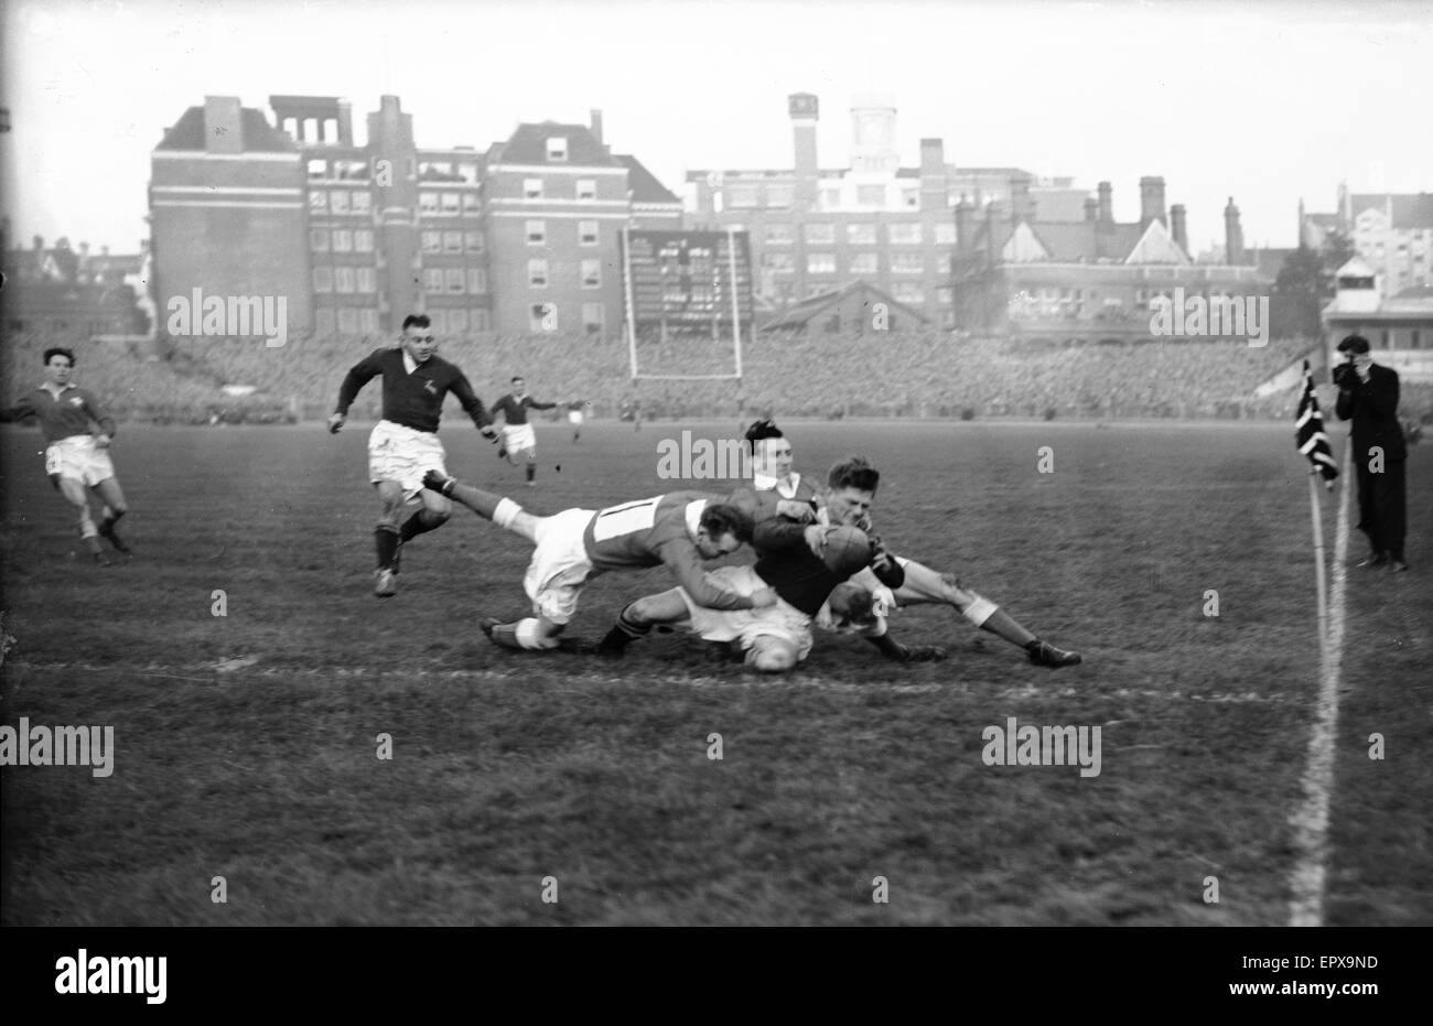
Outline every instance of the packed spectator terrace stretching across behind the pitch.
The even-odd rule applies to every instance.
[[[136,341],[76,341],[19,335],[4,354],[4,403],[42,378],[49,345],[79,357],[77,381],[119,418],[149,423],[282,423],[332,410],[347,370],[381,338],[291,338],[267,348],[258,338],[185,338],[156,355]],[[160,344],[162,347],[162,344]],[[758,335],[742,345],[735,381],[642,380],[633,385],[625,340],[480,335],[443,341],[440,355],[467,371],[484,403],[514,374],[542,400],[589,398],[596,417],[616,417],[633,400],[645,420],[731,417],[1045,417],[1045,418],[1283,418],[1298,390],[1262,400],[1254,388],[1310,348],[1307,340],[1168,341],[1132,345],[1013,348],[996,340],[943,332],[841,340]],[[641,342],[642,374],[731,374],[731,341],[672,338]],[[224,385],[252,388],[235,397]],[[1331,387],[1320,388],[1331,411]],[[378,387],[360,394],[350,416],[377,418]],[[1403,388],[1406,420],[1433,421],[1433,385]],[[553,417],[559,411],[553,411]]]

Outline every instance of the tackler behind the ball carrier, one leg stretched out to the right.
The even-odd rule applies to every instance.
[[[781,437],[781,433],[775,431],[774,437]],[[770,447],[771,443],[767,444]],[[781,446],[768,449],[768,451],[770,459],[765,463],[765,470],[771,474],[777,474],[782,467],[784,459],[785,467],[788,467],[787,474],[790,476],[790,443],[785,444],[785,456],[782,456]],[[758,454],[757,463],[758,477],[755,483],[758,490],[762,489],[765,483],[761,477],[764,466],[762,456],[765,456],[765,453]],[[775,487],[780,489],[780,486]],[[778,492],[778,494],[782,493]],[[800,510],[791,504],[782,504],[780,513],[782,516],[791,516],[792,513],[800,513]],[[866,532],[870,532],[871,529],[870,503],[860,504],[844,502],[840,509],[828,506],[825,510],[821,510],[820,503],[813,502],[808,503],[808,510],[800,513],[800,516],[801,519],[815,520],[818,523],[848,523],[861,527]],[[1082,662],[1079,652],[1066,652],[1065,649],[1042,641],[995,602],[962,586],[953,573],[940,573],[924,563],[917,563],[913,559],[904,559],[900,556],[896,557],[896,562],[904,570],[904,582],[898,588],[886,588],[884,582],[867,572],[857,573],[851,579],[853,583],[861,585],[876,595],[876,610],[881,620],[886,619],[886,613],[901,606],[923,603],[949,605],[953,606],[972,625],[980,628],[982,631],[989,631],[997,638],[1003,638],[1012,645],[1023,649],[1030,662],[1036,666],[1059,669],[1060,666],[1075,666]]]

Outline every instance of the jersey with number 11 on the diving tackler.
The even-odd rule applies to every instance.
[[[718,496],[669,492],[635,503],[598,510],[582,533],[592,572],[666,565],[692,602],[708,609],[751,609],[745,595],[724,592],[706,579],[696,550],[696,523]]]

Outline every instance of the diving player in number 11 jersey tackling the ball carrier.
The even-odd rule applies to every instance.
[[[671,492],[603,510],[569,509],[536,516],[512,499],[430,473],[426,486],[532,542],[523,589],[533,615],[513,623],[483,620],[483,633],[516,649],[557,648],[586,583],[608,570],[666,565],[702,608],[755,609],[777,602],[770,588],[744,595],[711,583],[702,560],[718,559],[751,540],[751,517],[718,496]]]

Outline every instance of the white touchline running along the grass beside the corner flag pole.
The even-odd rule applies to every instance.
[[[1344,586],[1348,579],[1348,489],[1353,486],[1353,441],[1344,450],[1343,487],[1338,489],[1338,526],[1334,529],[1334,572],[1328,588],[1328,659],[1321,661],[1318,715],[1308,735],[1304,801],[1294,810],[1294,848],[1298,853],[1290,877],[1290,926],[1324,924],[1324,886],[1328,877],[1328,800],[1334,784],[1334,731],[1338,725],[1338,673],[1343,663]]]

